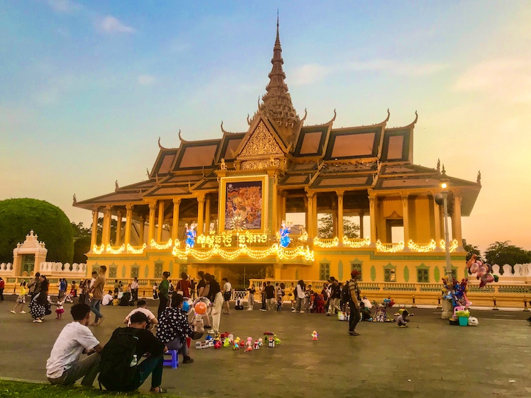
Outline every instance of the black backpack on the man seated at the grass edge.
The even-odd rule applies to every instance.
[[[98,381],[108,391],[135,390],[135,361],[138,344],[137,329],[123,328],[106,343],[101,351]]]

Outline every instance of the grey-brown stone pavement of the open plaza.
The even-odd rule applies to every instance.
[[[11,305],[0,304],[0,377],[45,381],[69,306],[62,321],[54,313],[33,324],[29,314],[11,314]],[[157,302],[149,305],[156,310]],[[106,343],[130,309],[103,307],[104,323],[91,328],[96,337]],[[250,353],[192,347],[195,362],[165,368],[163,385],[181,397],[531,397],[529,312],[473,310],[478,327],[449,326],[437,309],[413,312],[408,328],[362,322],[361,335],[348,336],[347,322],[323,314],[231,309],[223,331],[244,340],[274,331],[281,345]]]

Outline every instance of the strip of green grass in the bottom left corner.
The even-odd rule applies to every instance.
[[[177,397],[168,394],[142,394],[140,392],[108,392],[97,388],[84,388],[79,385],[63,387],[33,382],[16,382],[0,380],[0,398],[4,397],[39,397],[39,398],[92,398],[92,397]]]

